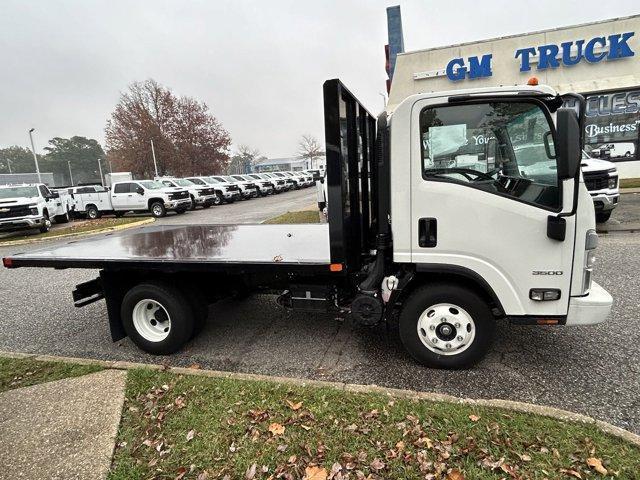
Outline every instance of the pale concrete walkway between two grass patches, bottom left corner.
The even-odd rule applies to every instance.
[[[108,370],[0,394],[0,478],[105,478],[126,376]]]

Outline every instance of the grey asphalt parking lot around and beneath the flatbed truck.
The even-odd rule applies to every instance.
[[[286,195],[291,196],[162,221],[251,223],[314,201],[313,189]],[[35,248],[38,245],[3,247],[0,256]],[[639,251],[639,234],[601,237],[595,279],[615,298],[607,322],[573,328],[501,324],[489,356],[466,371],[423,368],[404,353],[393,330],[354,327],[329,315],[291,313],[270,296],[213,305],[204,332],[184,351],[152,357],[128,339],[110,341],[103,302],[74,308],[71,290],[95,276],[77,270],[0,269],[0,350],[198,363],[219,370],[520,400],[585,413],[640,433]]]

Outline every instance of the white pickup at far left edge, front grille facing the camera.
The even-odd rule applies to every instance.
[[[56,223],[69,221],[69,196],[44,183],[0,186],[0,231],[37,228],[45,233]]]

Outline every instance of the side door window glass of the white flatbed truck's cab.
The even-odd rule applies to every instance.
[[[558,207],[553,135],[536,103],[427,107],[420,113],[420,135],[425,179],[464,183]]]

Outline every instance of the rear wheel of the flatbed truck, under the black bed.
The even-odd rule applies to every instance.
[[[153,355],[174,353],[193,335],[195,320],[188,297],[163,282],[133,287],[122,300],[120,314],[131,341]]]

